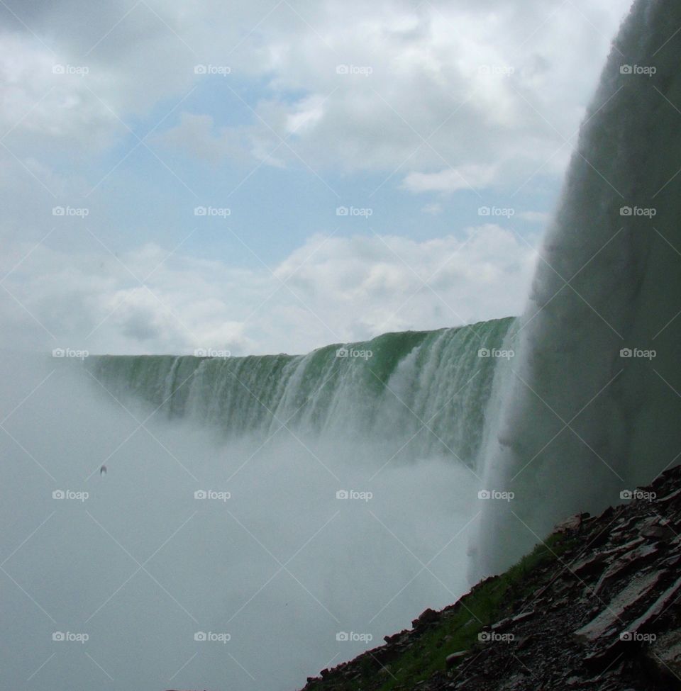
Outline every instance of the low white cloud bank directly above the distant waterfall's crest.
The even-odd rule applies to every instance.
[[[387,331],[519,313],[533,262],[532,250],[498,225],[425,242],[314,236],[272,274],[167,259],[150,244],[123,254],[120,263],[40,245],[5,283],[14,298],[0,294],[0,316],[10,325],[2,345],[306,352]]]

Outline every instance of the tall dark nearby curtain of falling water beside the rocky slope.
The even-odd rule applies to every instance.
[[[681,451],[681,5],[640,0],[614,42],[481,451],[476,574]]]

